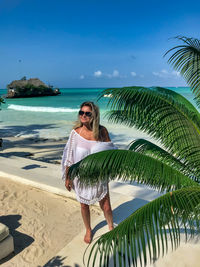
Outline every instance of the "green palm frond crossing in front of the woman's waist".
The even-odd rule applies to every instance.
[[[160,191],[170,191],[197,183],[180,171],[149,156],[128,150],[107,150],[87,156],[69,168],[71,179],[83,184],[120,179],[136,181]]]

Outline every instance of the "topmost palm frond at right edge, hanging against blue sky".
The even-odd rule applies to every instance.
[[[168,50],[164,56],[170,52],[174,52],[168,62],[175,70],[180,71],[181,75],[186,79],[191,90],[200,103],[200,40],[195,38],[187,38],[185,36],[175,37],[181,40],[184,45],[179,45]]]

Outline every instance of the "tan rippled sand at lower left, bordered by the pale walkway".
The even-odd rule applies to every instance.
[[[0,177],[0,222],[14,238],[5,267],[43,266],[84,229],[80,204]],[[99,214],[91,209],[92,220]]]

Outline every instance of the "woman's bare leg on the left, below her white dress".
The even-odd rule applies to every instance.
[[[86,228],[86,233],[84,237],[84,241],[86,243],[90,243],[92,241],[92,230],[90,224],[90,207],[87,204],[81,203],[81,214],[83,218],[83,222]]]

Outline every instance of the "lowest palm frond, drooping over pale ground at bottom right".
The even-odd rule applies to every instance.
[[[136,210],[114,230],[102,235],[93,245],[87,266],[134,266],[155,261],[180,243],[200,232],[200,187],[184,188],[146,204]],[[91,261],[93,262],[91,265]],[[118,264],[118,265],[117,265]]]

